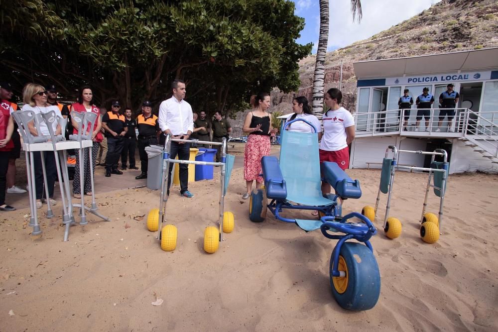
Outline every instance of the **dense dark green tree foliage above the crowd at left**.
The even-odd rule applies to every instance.
[[[23,0],[0,10],[2,79],[55,82],[68,98],[90,83],[102,106],[157,107],[179,78],[195,110],[237,111],[253,92],[297,89],[297,62],[311,51],[295,42],[304,19],[289,0]]]

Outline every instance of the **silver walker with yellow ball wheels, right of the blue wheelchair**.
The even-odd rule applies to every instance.
[[[388,158],[389,152],[392,152],[392,158]],[[431,155],[431,167],[414,167],[414,166],[401,166],[397,164],[399,153],[416,153]],[[436,156],[441,156],[443,161],[435,161]],[[362,210],[362,215],[373,220],[377,216],[378,204],[380,201],[380,193],[387,194],[387,205],[385,207],[384,215],[384,232],[385,235],[391,239],[398,237],[401,234],[401,222],[393,217],[389,217],[389,209],[392,194],[392,185],[394,182],[395,170],[409,170],[419,172],[429,172],[429,180],[425,191],[424,205],[422,208],[422,216],[420,218],[420,237],[427,243],[434,243],[439,239],[441,230],[441,223],[443,219],[443,202],[444,194],[446,191],[446,181],[448,178],[448,154],[443,149],[436,149],[434,152],[424,151],[409,151],[398,150],[395,146],[389,146],[385,150],[385,156],[382,160],[382,169],[380,172],[380,184],[378,187],[377,199],[375,201],[375,208],[366,206]],[[431,184],[433,178],[433,184]],[[429,196],[429,188],[434,188],[434,194],[440,198],[439,203],[439,217],[433,213],[426,213],[427,198]]]

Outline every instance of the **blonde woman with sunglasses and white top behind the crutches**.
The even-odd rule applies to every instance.
[[[47,92],[45,88],[38,84],[28,83],[24,86],[22,90],[22,99],[24,106],[22,111],[33,111],[35,113],[48,113],[54,111],[56,116],[62,117],[61,111],[57,106],[51,106],[47,103]],[[38,128],[35,127],[34,122],[28,123],[28,129],[31,135],[50,135],[50,132],[45,121],[40,121]],[[61,126],[57,121],[52,123],[52,130],[56,135],[61,134]],[[41,152],[33,153],[33,163],[34,163],[34,175],[35,175],[35,190],[36,190],[36,208],[40,209],[42,202],[46,202],[45,190],[43,188],[43,169],[41,166]],[[47,175],[47,187],[48,187],[48,200],[51,205],[56,205],[57,202],[53,199],[54,197],[54,185],[57,179],[57,166],[55,163],[55,157],[53,153],[45,152],[43,153],[43,160],[45,162],[45,172]],[[30,190],[32,190],[30,188]]]

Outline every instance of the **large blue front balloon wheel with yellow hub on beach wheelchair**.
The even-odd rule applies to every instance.
[[[344,242],[339,252],[339,271],[345,277],[332,277],[334,252],[330,257],[330,285],[337,303],[344,309],[372,309],[380,295],[380,273],[373,252],[363,243]]]

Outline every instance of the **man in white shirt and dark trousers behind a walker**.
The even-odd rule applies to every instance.
[[[184,101],[185,98],[185,82],[182,80],[174,80],[171,83],[173,96],[161,103],[159,106],[159,128],[163,132],[160,143],[164,144],[166,134],[170,134],[172,138],[189,139],[190,134],[194,130],[194,119],[192,107]],[[189,160],[190,144],[184,142],[171,142],[171,150],[169,157],[175,159],[178,155],[180,160]],[[180,167],[180,195],[192,198],[194,195],[188,191],[188,164],[179,164]],[[173,163],[169,164],[168,176],[168,196],[169,187],[171,185],[171,171]]]

